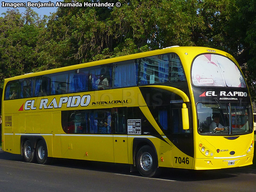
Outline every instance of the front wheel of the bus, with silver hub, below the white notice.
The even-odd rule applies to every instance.
[[[142,146],[137,153],[136,164],[143,177],[153,177],[157,169],[155,151],[148,145]]]

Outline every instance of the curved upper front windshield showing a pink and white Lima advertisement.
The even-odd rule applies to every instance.
[[[192,83],[196,86],[246,87],[236,64],[216,54],[199,55],[192,65]]]

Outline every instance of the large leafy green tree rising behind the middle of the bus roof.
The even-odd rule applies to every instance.
[[[120,8],[59,7],[47,24],[43,58],[67,66],[171,45],[221,47],[233,0],[120,2]]]

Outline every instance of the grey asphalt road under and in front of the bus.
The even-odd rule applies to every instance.
[[[231,168],[196,172],[166,168],[144,178],[124,164],[56,159],[50,165],[25,163],[0,150],[0,191],[256,191],[256,170]]]

